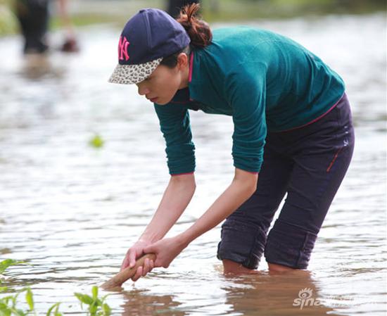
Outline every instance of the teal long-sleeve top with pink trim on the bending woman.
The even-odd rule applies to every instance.
[[[343,96],[343,80],[287,37],[252,27],[214,30],[212,43],[190,56],[189,87],[154,104],[166,141],[170,175],[194,172],[189,110],[231,115],[234,167],[259,172],[267,132],[322,117]]]

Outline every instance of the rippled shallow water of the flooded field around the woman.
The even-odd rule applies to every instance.
[[[311,49],[347,84],[355,121],[353,163],[329,210],[308,271],[225,277],[220,225],[168,269],[112,293],[113,315],[386,315],[386,20],[382,14],[260,20]],[[221,27],[222,25],[212,25]],[[153,106],[133,86],[108,84],[120,30],[78,30],[82,51],[52,53],[38,69],[18,37],[0,39],[0,260],[30,285],[39,312],[63,302],[80,315],[89,293],[118,272],[151,220],[169,176]],[[55,44],[61,34],[53,34]],[[191,113],[197,189],[167,236],[192,225],[229,185],[231,118]],[[100,134],[102,148],[89,146]],[[293,306],[309,289],[313,306]],[[305,290],[306,291],[306,290]]]

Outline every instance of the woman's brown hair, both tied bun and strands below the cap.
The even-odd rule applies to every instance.
[[[177,22],[183,25],[186,32],[189,34],[191,43],[170,56],[166,56],[161,61],[160,65],[165,65],[168,68],[175,68],[177,65],[177,56],[180,53],[191,54],[191,47],[203,48],[211,44],[212,32],[208,23],[196,18],[196,13],[200,9],[199,4],[188,4],[180,11]]]

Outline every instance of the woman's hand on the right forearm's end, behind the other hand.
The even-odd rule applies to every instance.
[[[172,260],[174,260],[184,248],[188,246],[184,243],[182,236],[177,235],[172,238],[165,238],[156,241],[156,243],[146,246],[144,253],[155,253],[156,260],[155,267],[169,267]]]

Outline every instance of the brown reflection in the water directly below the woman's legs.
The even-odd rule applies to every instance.
[[[224,288],[226,303],[238,315],[340,315],[324,305],[309,271],[261,272],[231,279],[233,284]]]

